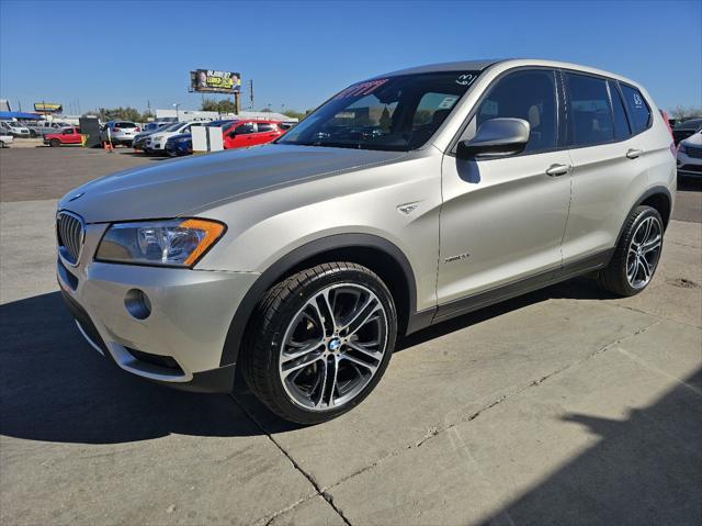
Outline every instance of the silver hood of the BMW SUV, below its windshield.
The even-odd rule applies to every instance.
[[[214,202],[397,160],[405,152],[269,144],[161,161],[88,182],[58,204],[88,223],[177,217]]]

